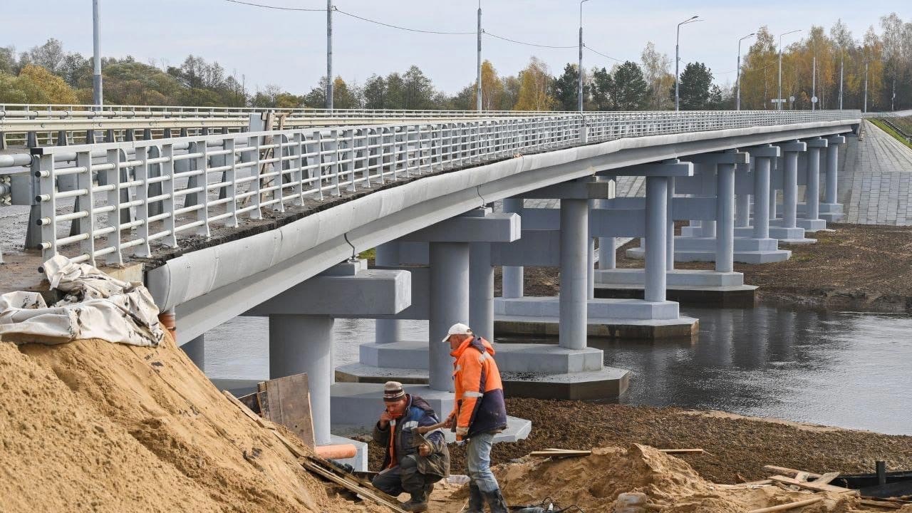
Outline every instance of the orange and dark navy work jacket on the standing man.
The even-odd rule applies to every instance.
[[[451,414],[456,418],[456,427],[468,428],[467,438],[472,434],[503,431],[507,410],[501,372],[497,370],[491,343],[481,337],[467,338],[450,354],[456,358],[453,362],[456,404]]]

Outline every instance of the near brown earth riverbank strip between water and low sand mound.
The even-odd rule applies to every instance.
[[[588,450],[629,444],[702,448],[679,455],[715,483],[735,484],[769,476],[764,465],[812,472],[873,472],[876,460],[892,469],[912,468],[912,436],[876,434],[721,412],[627,404],[507,399],[507,412],[532,420],[528,438],[494,445],[492,462],[508,463],[549,447]],[[451,445],[451,468],[462,473],[462,447]],[[371,445],[371,469],[382,464],[383,447]]]

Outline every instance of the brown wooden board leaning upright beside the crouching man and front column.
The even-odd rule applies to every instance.
[[[269,380],[265,387],[264,402],[260,403],[264,417],[282,424],[297,434],[305,445],[314,447],[314,419],[310,411],[310,387],[307,374],[295,374]]]

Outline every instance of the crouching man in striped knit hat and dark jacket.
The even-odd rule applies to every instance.
[[[387,449],[372,483],[393,497],[411,494],[402,505],[406,511],[427,511],[434,483],[450,475],[450,451],[440,427],[423,435],[412,429],[439,424],[440,419],[427,401],[405,393],[400,382],[383,385],[383,403],[386,409],[374,426],[374,441]]]

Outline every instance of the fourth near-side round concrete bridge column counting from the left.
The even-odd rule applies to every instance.
[[[666,240],[668,232],[668,178],[646,177],[646,289],[647,301],[664,301]]]

